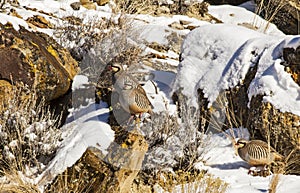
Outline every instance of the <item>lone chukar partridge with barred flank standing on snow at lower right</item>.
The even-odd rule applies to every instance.
[[[239,156],[252,166],[266,166],[274,161],[283,160],[282,155],[261,140],[239,139],[235,145]]]

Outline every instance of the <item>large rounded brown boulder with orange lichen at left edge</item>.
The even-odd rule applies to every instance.
[[[79,67],[66,49],[46,34],[0,27],[1,79],[22,82],[46,101],[69,90]]]

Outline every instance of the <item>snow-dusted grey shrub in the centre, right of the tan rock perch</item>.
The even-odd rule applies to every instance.
[[[196,163],[206,161],[204,155],[211,148],[210,137],[199,131],[199,111],[189,107],[181,97],[179,115],[154,114],[151,122],[141,128],[149,143],[144,161],[146,169],[189,171]]]

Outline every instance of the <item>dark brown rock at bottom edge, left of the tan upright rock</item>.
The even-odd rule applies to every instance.
[[[113,192],[114,171],[103,161],[103,154],[96,148],[88,148],[82,157],[48,186],[45,193]],[[63,189],[62,189],[63,187]],[[81,191],[79,191],[79,189]]]

